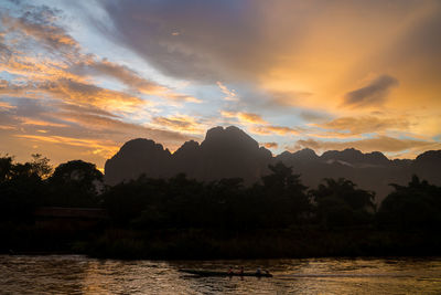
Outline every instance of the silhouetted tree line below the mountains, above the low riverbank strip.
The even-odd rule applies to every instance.
[[[302,185],[282,162],[246,187],[241,179],[201,182],[178,175],[146,176],[114,187],[94,164],[73,160],[57,166],[41,155],[21,164],[0,158],[0,221],[32,223],[37,207],[103,208],[107,226],[218,229],[247,231],[315,226],[437,231],[441,225],[441,188],[413,176],[377,208],[375,193],[347,179]]]

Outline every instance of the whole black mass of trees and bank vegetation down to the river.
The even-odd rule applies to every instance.
[[[250,187],[241,179],[207,183],[185,175],[106,187],[93,164],[73,160],[53,170],[40,155],[25,164],[3,156],[0,231],[10,244],[2,242],[0,250],[21,247],[30,236],[33,242],[22,249],[43,243],[40,247],[50,250],[63,236],[61,249],[105,256],[372,255],[440,249],[440,239],[430,239],[439,236],[441,188],[418,177],[408,186],[391,185],[394,191],[377,210],[375,193],[347,179],[324,179],[309,189],[290,167],[278,162],[269,169]],[[34,211],[42,207],[100,208],[108,218],[89,235],[75,235],[84,229],[71,224],[68,231],[56,231],[35,223]]]

